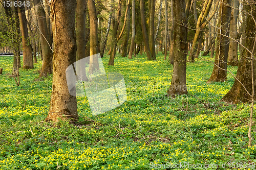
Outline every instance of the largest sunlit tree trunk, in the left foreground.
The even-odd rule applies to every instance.
[[[47,121],[58,118],[78,119],[76,96],[69,93],[66,69],[76,61],[75,35],[76,1],[51,1],[53,12],[53,81],[50,111]],[[74,78],[73,79],[75,82]]]

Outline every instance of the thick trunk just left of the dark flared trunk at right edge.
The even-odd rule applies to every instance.
[[[220,19],[217,36],[217,50],[215,56],[214,70],[209,82],[224,82],[227,81],[227,57],[228,57],[228,45],[229,45],[229,24],[231,15],[231,0],[222,0],[220,7]]]

